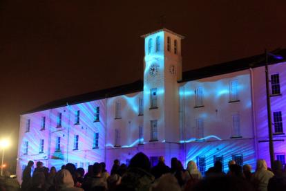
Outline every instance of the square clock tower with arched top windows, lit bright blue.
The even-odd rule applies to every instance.
[[[144,46],[144,143],[179,143],[181,35],[163,28],[142,35]]]

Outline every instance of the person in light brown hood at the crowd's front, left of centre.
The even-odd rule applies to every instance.
[[[76,188],[73,176],[66,169],[60,170],[55,176],[55,188],[60,191],[83,191],[82,188]]]

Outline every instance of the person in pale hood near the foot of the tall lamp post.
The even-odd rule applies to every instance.
[[[267,170],[267,164],[264,159],[258,159],[256,163],[256,171],[251,178],[256,190],[267,191],[269,179],[274,176],[273,172]]]

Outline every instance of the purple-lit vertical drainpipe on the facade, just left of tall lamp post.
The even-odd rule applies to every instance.
[[[254,149],[256,159],[258,158],[258,140],[257,140],[257,129],[256,129],[256,111],[254,103],[254,71],[249,68],[250,71],[250,83],[251,83],[251,109],[252,109],[252,127],[254,130]]]

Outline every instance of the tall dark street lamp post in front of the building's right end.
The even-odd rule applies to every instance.
[[[273,167],[275,158],[274,158],[273,132],[272,132],[272,120],[271,120],[271,103],[270,103],[270,93],[269,93],[268,56],[274,57],[277,60],[283,60],[283,57],[280,55],[274,55],[273,53],[269,53],[265,49],[265,79],[266,79],[269,154],[270,154],[271,167]]]

